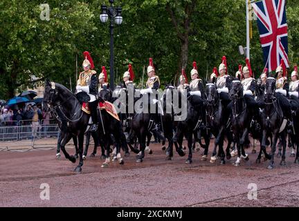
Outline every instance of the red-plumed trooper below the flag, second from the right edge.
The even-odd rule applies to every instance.
[[[291,116],[291,104],[287,99],[287,95],[289,92],[289,84],[287,82],[287,68],[284,64],[284,60],[280,60],[280,66],[276,68],[276,90],[275,93],[278,95],[278,100],[280,102],[280,106],[282,107],[282,112],[284,113],[284,117],[289,119],[288,126],[292,126],[293,120]]]

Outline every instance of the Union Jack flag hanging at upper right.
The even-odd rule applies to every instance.
[[[262,0],[251,5],[257,16],[265,68],[275,70],[280,59],[289,68],[285,0]]]

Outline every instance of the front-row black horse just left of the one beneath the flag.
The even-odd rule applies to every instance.
[[[237,144],[237,160],[235,162],[235,166],[239,166],[241,157],[244,158],[244,160],[249,160],[248,155],[244,150],[244,144],[248,139],[248,132],[251,126],[253,115],[247,108],[243,96],[243,86],[241,81],[233,80],[229,91],[229,96],[232,101],[230,103],[230,122],[234,139]]]

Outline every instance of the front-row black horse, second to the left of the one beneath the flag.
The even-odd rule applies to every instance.
[[[225,164],[225,153],[224,153],[224,136],[226,135],[228,139],[228,145],[226,147],[226,158],[230,160],[230,144],[233,137],[230,135],[230,131],[227,128],[227,123],[229,115],[225,110],[225,106],[219,99],[219,94],[217,93],[217,86],[213,83],[206,84],[206,95],[207,95],[207,127],[215,136],[215,144],[212,152],[212,157],[210,159],[211,163],[214,163],[217,159],[217,146],[219,146],[219,153],[221,157],[221,164]],[[207,153],[206,151],[205,153]],[[203,155],[206,156],[206,155]]]

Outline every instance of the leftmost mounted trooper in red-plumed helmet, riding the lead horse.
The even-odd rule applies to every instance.
[[[98,108],[98,100],[97,100],[97,88],[98,88],[98,80],[96,77],[96,71],[93,70],[93,59],[89,55],[88,51],[83,52],[84,61],[83,61],[83,69],[84,71],[80,73],[79,79],[77,82],[76,90],[77,93],[80,91],[84,91],[89,95],[89,110],[91,111],[91,119],[93,124],[91,125],[90,131],[96,131],[98,128],[98,117],[97,117],[97,108]]]

